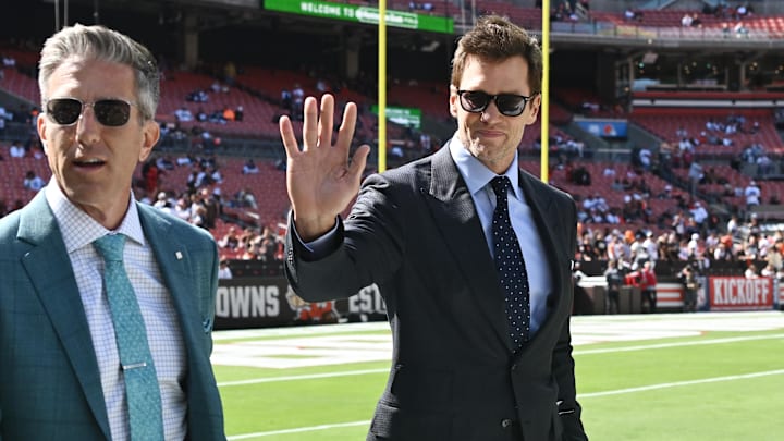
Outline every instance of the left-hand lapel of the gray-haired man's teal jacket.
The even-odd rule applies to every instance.
[[[110,439],[98,363],[71,259],[44,192],[20,216],[19,238],[33,248],[22,265],[49,316],[73,371],[106,439]]]

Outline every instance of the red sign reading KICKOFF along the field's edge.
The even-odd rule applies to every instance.
[[[710,310],[773,309],[773,279],[708,278]]]

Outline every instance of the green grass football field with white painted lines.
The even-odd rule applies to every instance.
[[[591,440],[784,439],[784,313],[572,321]],[[215,333],[229,440],[364,440],[387,323]]]

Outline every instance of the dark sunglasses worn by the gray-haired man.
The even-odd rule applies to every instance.
[[[82,115],[85,107],[93,107],[96,120],[108,127],[119,127],[131,119],[131,106],[122,99],[99,99],[95,102],[82,102],[76,98],[52,98],[46,102],[46,113],[60,125],[72,125]]]

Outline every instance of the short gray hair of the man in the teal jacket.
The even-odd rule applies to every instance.
[[[160,73],[155,57],[142,44],[101,25],[66,26],[46,40],[38,62],[38,87],[42,108],[48,99],[49,77],[70,57],[133,68],[139,111],[145,120],[155,118],[160,100]]]

